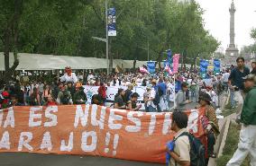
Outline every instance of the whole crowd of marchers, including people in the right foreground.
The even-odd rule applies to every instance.
[[[66,67],[65,74],[57,77],[52,83],[43,80],[30,82],[29,79],[21,81],[19,78],[5,84],[0,93],[0,109],[13,106],[86,104],[87,94],[83,85],[87,84],[98,86],[97,94],[92,96],[90,104],[105,106],[107,101],[105,87],[124,86],[125,89],[118,89],[110,107],[137,111],[142,108],[142,103],[137,102],[140,95],[133,92],[133,87],[144,86],[146,89],[143,94],[144,111],[173,111],[171,129],[177,134],[167,147],[169,165],[189,165],[192,162],[189,154],[191,140],[186,136],[188,135],[187,115],[184,111],[195,109],[191,108],[192,102],[197,103],[197,109],[204,108],[204,117],[201,121],[205,135],[202,135],[200,141],[206,147],[205,163],[207,165],[209,157],[216,157],[214,144],[219,134],[219,127],[215,109],[220,106],[218,96],[221,92],[230,92],[231,105],[237,109],[237,122],[244,124],[242,132],[248,132],[248,135],[241,135],[241,137],[246,138],[248,143],[240,142],[237,152],[228,165],[241,162],[242,157],[248,152],[253,154],[254,158],[251,162],[256,165],[256,156],[254,156],[256,151],[252,151],[252,145],[256,144],[256,89],[254,88],[256,63],[251,64],[250,73],[249,68],[244,66],[243,57],[237,58],[236,62],[237,66],[224,68],[220,74],[208,72],[204,79],[194,70],[178,72],[172,76],[164,71],[152,75],[139,72],[106,75],[90,71],[86,76],[82,74],[77,76],[70,67]]]

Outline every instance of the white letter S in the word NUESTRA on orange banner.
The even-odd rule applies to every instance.
[[[127,118],[130,121],[132,121],[135,124],[135,126],[127,126],[127,127],[125,127],[125,130],[128,131],[128,132],[133,132],[133,133],[134,132],[140,132],[141,129],[142,129],[141,119],[133,117],[134,114],[137,114],[138,117],[142,117],[143,112],[133,112],[133,111],[130,111],[127,114]]]

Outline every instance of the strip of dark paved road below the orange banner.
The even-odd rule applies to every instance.
[[[0,166],[163,166],[104,157],[39,153],[0,153]]]

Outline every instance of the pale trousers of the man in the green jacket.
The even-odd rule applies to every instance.
[[[239,140],[238,148],[226,166],[240,166],[248,154],[250,154],[251,159],[250,165],[256,165],[256,126],[244,127],[242,125]]]

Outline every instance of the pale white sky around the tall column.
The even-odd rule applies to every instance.
[[[222,48],[229,44],[229,8],[232,0],[196,0],[205,10],[203,18],[205,29],[210,31],[215,39],[221,41]],[[251,28],[256,28],[256,0],[234,0],[234,42],[240,49],[253,44],[250,37]]]

